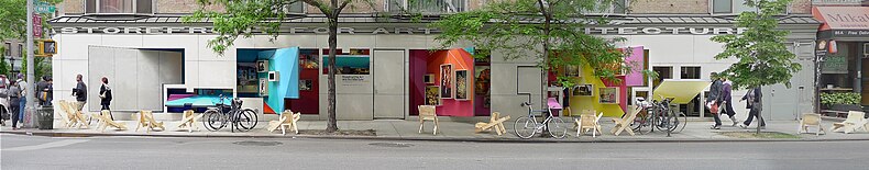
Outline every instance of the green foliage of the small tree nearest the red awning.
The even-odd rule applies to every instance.
[[[784,45],[788,31],[778,30],[781,11],[791,0],[747,0],[745,4],[756,11],[743,12],[736,18],[737,27],[746,27],[739,35],[717,35],[712,41],[724,43],[725,49],[716,59],[736,58],[737,63],[724,72],[737,89],[756,88],[777,83],[791,87],[790,80],[802,67],[794,63],[794,54]]]

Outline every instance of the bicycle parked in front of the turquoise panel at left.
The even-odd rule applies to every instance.
[[[204,113],[206,121],[202,121],[202,124],[208,131],[216,132],[230,124],[230,129],[233,133],[235,129],[246,132],[256,127],[258,120],[255,111],[241,109],[242,101],[238,98],[232,99],[230,105],[226,105],[223,101],[227,99],[221,94],[216,107],[208,107]],[[227,111],[224,112],[224,110]]]

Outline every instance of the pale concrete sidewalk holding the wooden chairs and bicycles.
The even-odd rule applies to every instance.
[[[514,121],[514,120],[509,120]],[[514,141],[514,143],[631,143],[631,141],[825,141],[825,140],[869,140],[869,133],[843,134],[829,132],[829,126],[833,122],[823,122],[824,128],[827,128],[826,134],[815,136],[811,134],[796,134],[799,122],[796,121],[770,121],[767,122],[767,129],[763,132],[779,132],[785,134],[798,135],[800,138],[789,139],[774,139],[774,138],[734,138],[721,135],[719,132],[754,132],[755,128],[749,127],[743,129],[739,127],[732,127],[725,125],[722,129],[710,129],[711,122],[688,122],[685,128],[672,137],[667,137],[662,132],[653,132],[648,134],[637,134],[630,136],[623,133],[620,136],[614,136],[609,133],[614,124],[609,118],[601,118],[603,135],[593,138],[591,134],[576,137],[576,131],[573,125],[570,125],[568,137],[563,139],[554,139],[551,137],[536,136],[531,139],[521,139],[517,137],[513,131],[513,122],[507,122],[504,125],[507,128],[507,134],[503,136],[495,135],[495,132],[488,133],[474,133],[474,123],[471,122],[440,122],[440,128],[437,135],[432,135],[431,131],[433,124],[426,122],[426,128],[420,134],[419,122],[417,121],[339,121],[338,126],[340,129],[374,129],[376,136],[333,136],[333,135],[305,135],[293,134],[282,135],[280,131],[270,133],[265,129],[268,122],[260,122],[256,127],[245,133],[231,133],[229,128],[224,127],[218,132],[209,132],[200,123],[198,126],[200,131],[188,133],[180,131],[176,127],[178,122],[165,122],[166,131],[152,131],[145,133],[144,128],[135,132],[135,121],[119,121],[127,125],[127,131],[116,131],[107,128],[105,133],[97,131],[96,126],[91,125],[88,129],[74,129],[61,127],[61,122],[56,121],[54,129],[41,131],[34,128],[12,131],[9,126],[0,128],[0,133],[6,134],[31,134],[43,136],[69,136],[69,137],[84,137],[84,136],[154,136],[154,137],[263,137],[263,138],[337,138],[337,139],[387,139],[387,140],[444,140],[444,141]],[[572,123],[573,121],[570,121]],[[324,121],[300,121],[299,129],[326,129]],[[814,132],[814,128],[810,131]]]

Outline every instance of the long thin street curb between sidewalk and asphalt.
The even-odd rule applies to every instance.
[[[365,140],[407,140],[407,141],[466,141],[466,143],[758,143],[758,141],[864,141],[866,139],[741,139],[741,138],[727,138],[727,139],[661,139],[661,138],[647,138],[647,139],[597,139],[587,138],[580,140],[564,140],[553,138],[534,138],[534,139],[518,139],[518,138],[469,138],[469,137],[376,137],[376,136],[318,136],[318,135],[294,135],[294,136],[275,136],[275,135],[175,135],[175,134],[100,134],[100,133],[56,133],[56,132],[26,132],[3,131],[0,134],[15,134],[15,135],[35,135],[48,137],[91,137],[91,136],[136,136],[136,137],[195,137],[195,138],[311,138],[311,139],[365,139]]]

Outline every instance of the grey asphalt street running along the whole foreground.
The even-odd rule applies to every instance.
[[[867,141],[458,143],[0,134],[0,169],[869,169]]]

